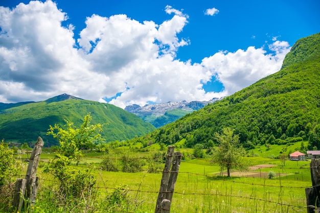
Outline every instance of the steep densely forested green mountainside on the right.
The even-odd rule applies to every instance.
[[[231,127],[246,148],[308,138],[320,148],[319,46],[320,34],[298,40],[279,72],[140,139],[210,147],[215,132]]]

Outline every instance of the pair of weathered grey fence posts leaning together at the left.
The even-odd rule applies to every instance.
[[[24,202],[23,196],[26,197],[26,200],[30,199],[31,203],[34,203],[36,200],[37,187],[38,187],[38,181],[37,181],[38,178],[36,177],[36,173],[37,173],[37,168],[38,168],[43,144],[44,143],[42,138],[38,137],[37,143],[34,146],[30,156],[26,178],[17,179],[16,181],[13,206],[16,207],[17,211],[21,210],[21,207]],[[21,184],[20,182],[25,182],[25,184]]]

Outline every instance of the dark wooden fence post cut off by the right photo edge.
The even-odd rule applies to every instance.
[[[312,188],[306,188],[307,212],[320,212],[320,159],[311,159],[310,162]]]

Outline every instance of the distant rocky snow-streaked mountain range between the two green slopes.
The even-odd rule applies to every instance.
[[[179,101],[167,102],[159,104],[150,104],[139,106],[136,104],[127,106],[126,111],[135,114],[145,122],[148,122],[156,128],[162,127],[166,124],[176,121],[180,117],[191,113],[195,110],[203,108],[209,103],[214,103],[222,98],[214,98],[210,101]]]

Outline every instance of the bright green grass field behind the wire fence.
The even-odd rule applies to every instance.
[[[290,149],[295,146],[291,145]],[[290,161],[285,165],[279,159],[269,158],[283,147],[275,147],[276,151],[264,147],[254,150],[259,156],[246,157],[250,165],[258,165],[253,170],[234,173],[232,177],[220,176],[219,167],[211,164],[209,158],[186,159],[181,162],[170,212],[306,212],[305,187],[311,187],[310,161]],[[287,147],[288,148],[288,147]],[[150,151],[151,150],[151,151]],[[148,156],[153,149],[136,152],[136,156]],[[190,149],[179,149],[180,152],[192,152]],[[121,153],[121,149],[115,151]],[[266,153],[267,152],[267,153]],[[54,154],[41,154],[42,164]],[[25,157],[25,156],[22,156]],[[95,186],[99,192],[97,199],[103,202],[105,196],[119,186],[125,187],[126,195],[133,206],[114,212],[154,212],[155,203],[161,183],[162,173],[147,173],[146,170],[135,173],[101,171],[100,162],[106,155],[103,153],[84,153],[84,158],[76,169],[88,168],[97,177]],[[39,177],[41,194],[56,187],[53,177],[41,172]],[[273,171],[276,178],[269,179],[266,174]],[[255,173],[256,175],[246,175]],[[44,202],[45,203],[45,202]],[[132,203],[131,203],[132,204]],[[38,206],[43,209],[43,202]],[[62,208],[63,209],[63,208]],[[43,212],[52,212],[50,210]],[[63,211],[57,211],[63,212]],[[91,212],[91,211],[83,211]],[[97,207],[92,212],[106,212]]]

